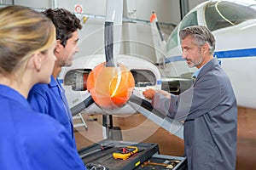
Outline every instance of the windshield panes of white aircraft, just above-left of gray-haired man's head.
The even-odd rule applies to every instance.
[[[184,19],[182,20],[181,24],[180,24],[180,29],[183,29],[187,26],[197,26],[198,22],[197,22],[197,13],[196,11],[187,15],[186,17],[184,17]],[[166,50],[169,51],[172,48],[177,47],[177,39],[178,38],[178,32],[177,32],[177,27],[172,31],[171,36],[169,37],[168,41],[167,41],[167,46],[166,46]]]

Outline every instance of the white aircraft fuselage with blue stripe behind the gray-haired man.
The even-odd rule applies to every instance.
[[[201,3],[184,16],[167,41],[162,37],[157,22],[153,14],[151,26],[155,54],[164,80],[176,78],[176,82],[180,82],[176,87],[189,83],[195,70],[189,69],[182,59],[178,32],[187,26],[207,26],[216,38],[214,56],[230,77],[238,105],[256,108],[255,1],[215,0]],[[169,84],[172,88],[172,82]],[[177,91],[182,90],[177,88]]]

